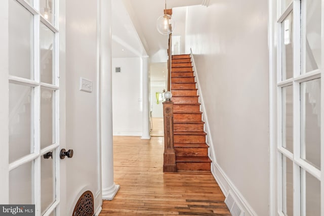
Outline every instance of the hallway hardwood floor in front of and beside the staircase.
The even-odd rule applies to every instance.
[[[164,138],[114,137],[114,182],[106,215],[231,215],[210,171],[163,173]]]

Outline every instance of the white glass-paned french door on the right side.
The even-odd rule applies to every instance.
[[[321,0],[278,0],[278,215],[324,215]]]

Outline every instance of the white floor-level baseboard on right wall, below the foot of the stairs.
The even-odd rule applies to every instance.
[[[225,197],[228,196],[229,191],[232,192],[234,200],[239,206],[242,207],[242,210],[245,212],[246,216],[258,216],[258,214],[253,210],[252,206],[244,198],[244,196],[238,191],[232,181],[225,174],[223,169],[217,164],[217,162],[212,162],[211,164],[212,175],[214,176],[216,182],[221,188]]]

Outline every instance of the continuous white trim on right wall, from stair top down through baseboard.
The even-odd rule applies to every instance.
[[[196,89],[198,89],[197,94],[199,96],[199,103],[200,103],[200,111],[203,112],[202,119],[205,121],[204,125],[204,132],[206,133],[206,144],[209,146],[208,148],[208,156],[212,159],[211,162],[211,172],[213,177],[215,178],[217,184],[219,185],[220,189],[222,190],[223,194],[227,198],[229,193],[231,192],[232,196],[234,197],[234,204],[241,208],[241,214],[244,216],[257,216],[258,214],[252,208],[250,203],[246,200],[246,198],[240,193],[240,191],[236,188],[233,182],[229,179],[226,175],[224,170],[220,167],[217,162],[216,154],[213,148],[213,140],[210,134],[210,127],[208,122],[208,116],[205,108],[204,97],[200,92],[200,82],[197,74],[197,68],[194,62],[192,50],[190,48],[190,57],[193,66],[193,75],[195,77],[196,82]],[[228,206],[231,208],[232,206]]]

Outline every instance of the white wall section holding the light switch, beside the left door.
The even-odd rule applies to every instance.
[[[66,163],[67,207],[71,215],[83,192],[101,195],[97,143],[97,1],[66,1]],[[79,91],[79,78],[93,81],[93,92]],[[99,197],[101,200],[101,197]],[[99,201],[95,202],[95,210]]]

